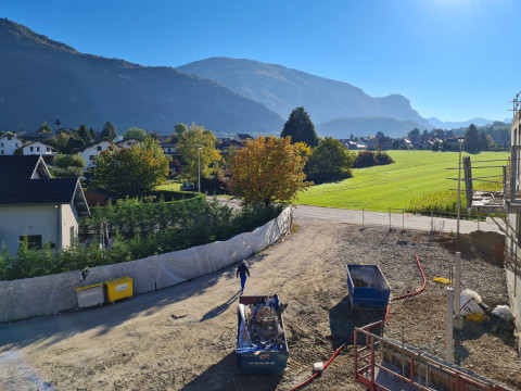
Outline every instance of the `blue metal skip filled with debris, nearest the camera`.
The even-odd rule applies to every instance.
[[[289,350],[284,323],[280,312],[268,311],[262,304],[269,299],[268,295],[239,298],[236,356],[241,374],[282,375],[285,369]]]

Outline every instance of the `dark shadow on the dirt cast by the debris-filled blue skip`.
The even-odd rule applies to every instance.
[[[239,375],[236,353],[232,352],[195,377],[180,391],[268,391],[275,390],[281,379],[282,375]]]

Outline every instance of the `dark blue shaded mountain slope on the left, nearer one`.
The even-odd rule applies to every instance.
[[[170,134],[195,122],[217,135],[280,134],[284,121],[263,104],[200,76],[84,54],[0,18],[0,130],[35,131],[43,121],[120,133]]]

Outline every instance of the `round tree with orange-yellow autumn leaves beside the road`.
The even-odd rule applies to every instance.
[[[313,185],[304,174],[309,153],[305,143],[292,144],[291,137],[247,140],[231,164],[231,190],[249,205],[292,201]]]

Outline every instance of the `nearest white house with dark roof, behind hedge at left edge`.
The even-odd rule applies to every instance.
[[[0,243],[13,255],[24,236],[34,248],[69,247],[90,215],[79,179],[52,178],[40,155],[0,156]]]

